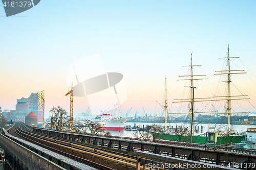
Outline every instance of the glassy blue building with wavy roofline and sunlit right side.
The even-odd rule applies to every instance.
[[[45,90],[31,93],[28,98],[17,99],[16,110],[11,110],[12,120],[25,120],[25,117],[32,111],[38,121],[42,121],[44,111]],[[18,118],[19,117],[19,118]]]

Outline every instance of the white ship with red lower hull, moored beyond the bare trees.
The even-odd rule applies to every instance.
[[[113,117],[111,114],[103,113],[94,118],[95,122],[105,125],[105,130],[124,130],[127,118]]]

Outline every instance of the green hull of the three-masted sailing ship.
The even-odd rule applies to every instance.
[[[190,142],[190,136],[171,135],[171,134],[165,134],[165,133],[157,134],[157,139],[177,141],[177,142]],[[241,143],[241,141],[243,141],[244,139],[245,139],[245,135],[218,136],[216,145],[220,145],[220,144],[229,145],[231,143]],[[205,136],[193,136],[192,142],[205,144]]]

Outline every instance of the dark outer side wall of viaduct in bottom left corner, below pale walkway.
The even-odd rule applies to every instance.
[[[6,160],[11,163],[13,159],[18,158],[19,166],[28,167],[29,169],[60,169],[64,170],[65,168],[47,160],[46,158],[28,150],[22,145],[12,141],[11,139],[0,134],[0,145],[4,148],[6,153]],[[11,163],[13,164],[13,163]]]

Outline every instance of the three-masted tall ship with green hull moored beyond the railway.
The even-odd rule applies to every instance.
[[[227,61],[227,64],[226,64],[227,68],[224,70],[216,71],[217,73],[215,74],[215,75],[227,76],[225,78],[225,81],[222,81],[222,82],[226,83],[226,87],[222,89],[222,91],[225,90],[224,95],[215,94],[214,96],[212,96],[212,98],[194,98],[194,90],[195,90],[195,88],[197,88],[194,86],[194,81],[195,80],[203,80],[203,78],[198,78],[198,77],[205,76],[205,75],[193,75],[193,67],[199,66],[199,65],[192,64],[192,54],[191,54],[191,59],[190,59],[191,61],[190,61],[190,65],[188,66],[188,67],[190,67],[191,74],[187,75],[187,76],[180,76],[180,77],[188,77],[188,78],[182,79],[182,80],[190,82],[189,87],[191,88],[191,92],[190,92],[191,95],[188,99],[176,99],[173,102],[173,103],[180,103],[180,102],[189,103],[188,112],[167,113],[167,98],[166,98],[165,99],[165,107],[164,107],[164,110],[165,110],[165,133],[162,133],[162,135],[160,135],[158,137],[158,139],[173,140],[173,141],[179,141],[179,142],[193,142],[193,143],[201,143],[201,144],[205,143],[205,134],[204,133],[200,134],[200,133],[193,132],[194,128],[197,126],[193,123],[195,121],[195,119],[194,119],[195,113],[208,113],[208,114],[218,114],[218,115],[226,114],[227,115],[227,127],[225,128],[225,130],[222,129],[222,131],[220,131],[220,130],[218,131],[219,135],[218,135],[217,142],[216,142],[217,145],[220,145],[220,144],[230,145],[231,143],[240,143],[242,138],[245,138],[245,134],[235,132],[234,130],[232,130],[230,128],[230,124],[231,124],[230,123],[230,115],[231,114],[250,113],[249,111],[236,112],[231,108],[231,101],[248,100],[246,94],[242,94],[242,93],[241,93],[241,95],[231,94],[231,75],[246,73],[246,72],[244,72],[244,70],[230,69],[230,60],[234,59],[234,58],[239,58],[239,57],[230,57],[229,56],[229,45],[228,45],[227,57],[220,58],[220,59],[225,59]],[[165,87],[165,89],[166,89],[166,87]],[[166,93],[167,92],[165,90],[165,95],[166,95]],[[194,103],[196,103],[196,102],[214,102],[214,101],[218,101],[218,102],[222,101],[226,104],[224,106],[223,113],[218,113],[217,111],[201,111],[201,112],[197,112],[197,110],[195,111]],[[167,125],[166,125],[167,114],[189,114],[188,122],[190,123],[190,127],[186,128],[185,132],[183,131],[183,129],[181,129],[178,132],[168,130]],[[214,129],[213,132],[217,132],[217,131]],[[190,136],[192,136],[192,138],[190,138]]]

